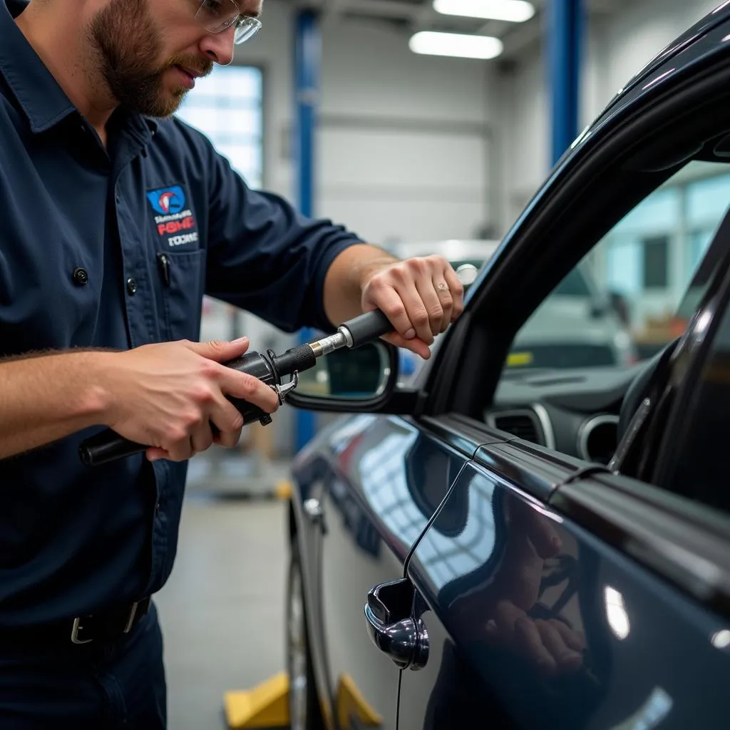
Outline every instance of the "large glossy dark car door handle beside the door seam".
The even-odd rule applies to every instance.
[[[370,640],[399,669],[421,669],[429,658],[429,634],[413,618],[413,586],[402,578],[376,585],[367,594],[365,626]]]

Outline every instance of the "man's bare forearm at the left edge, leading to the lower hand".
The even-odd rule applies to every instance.
[[[99,374],[110,353],[80,351],[0,361],[0,458],[101,422]]]

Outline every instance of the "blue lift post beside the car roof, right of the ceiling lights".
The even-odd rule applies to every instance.
[[[552,164],[578,136],[580,70],[583,61],[583,0],[550,0],[548,52],[552,119]]]

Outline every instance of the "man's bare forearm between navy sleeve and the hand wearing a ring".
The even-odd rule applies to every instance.
[[[372,273],[398,260],[369,244],[356,244],[342,251],[325,277],[324,310],[330,322],[337,326],[362,314],[364,283]]]

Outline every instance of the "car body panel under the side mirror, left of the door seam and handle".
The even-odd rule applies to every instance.
[[[403,577],[412,544],[481,442],[448,418],[425,430],[368,415],[335,423],[328,439],[332,456],[311,467],[317,478],[303,480],[311,491],[301,495],[318,688],[332,726],[394,729],[399,671],[372,650],[362,596]]]

